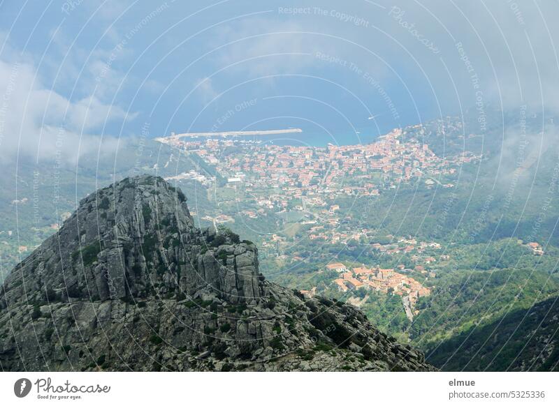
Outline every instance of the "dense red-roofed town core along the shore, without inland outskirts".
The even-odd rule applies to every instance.
[[[404,138],[405,133],[395,129],[372,144],[324,148],[241,139],[168,142],[198,154],[217,167],[228,186],[242,186],[258,206],[275,210],[326,206],[327,200],[339,195],[378,195],[399,181],[453,174],[455,164],[477,159],[471,154],[440,158],[417,138]],[[269,193],[271,188],[275,193]],[[261,190],[268,193],[263,195]]]

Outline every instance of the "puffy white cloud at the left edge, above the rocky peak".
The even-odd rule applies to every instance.
[[[76,102],[47,89],[31,63],[0,60],[0,158],[73,161],[87,152],[112,149],[115,138],[96,134],[110,121],[133,118],[95,96]]]

